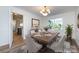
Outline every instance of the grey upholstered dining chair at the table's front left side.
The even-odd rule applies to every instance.
[[[34,41],[34,39],[31,37],[31,34],[26,35],[26,44],[28,53],[36,53],[42,48],[40,44]]]

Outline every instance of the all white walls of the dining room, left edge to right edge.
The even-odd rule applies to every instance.
[[[76,16],[79,13],[79,9],[73,12],[67,12],[59,15],[52,15],[50,17],[39,17],[38,15],[34,15],[28,11],[24,11],[15,7],[0,7],[0,46],[5,44],[11,44],[12,41],[12,13],[16,12],[23,15],[24,20],[24,29],[23,29],[23,38],[25,39],[25,35],[28,34],[31,28],[31,19],[38,18],[40,19],[40,26],[44,27],[48,24],[49,19],[53,18],[63,18],[64,26],[67,24],[73,24],[74,26],[74,34],[73,38],[77,38],[79,40],[79,30],[76,30]],[[76,29],[75,29],[76,27]],[[76,34],[76,36],[75,36]],[[78,41],[79,42],[79,41]]]

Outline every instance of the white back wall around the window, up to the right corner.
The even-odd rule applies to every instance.
[[[64,27],[64,30],[63,32],[65,32],[65,26],[67,26],[67,24],[73,24],[73,27],[74,27],[74,31],[73,31],[73,38],[75,38],[75,11],[71,11],[71,12],[66,12],[66,13],[63,13],[63,14],[58,14],[58,15],[52,15],[52,16],[49,16],[49,17],[44,17],[42,20],[41,20],[41,26],[42,27],[45,27],[48,25],[48,20],[50,19],[55,19],[55,18],[63,18],[63,27]]]

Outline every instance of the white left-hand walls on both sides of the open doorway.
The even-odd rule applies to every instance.
[[[12,43],[13,39],[13,26],[12,26],[12,12],[23,15],[23,38],[25,39],[31,29],[32,18],[40,17],[28,11],[24,11],[15,7],[0,7],[0,46]]]

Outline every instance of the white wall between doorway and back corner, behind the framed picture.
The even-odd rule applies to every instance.
[[[37,19],[40,20],[40,17],[38,15],[32,14],[32,13],[30,13],[28,11],[24,11],[22,9],[18,9],[16,7],[11,7],[10,8],[10,13],[11,12],[15,12],[15,13],[23,15],[23,38],[25,39],[26,35],[29,33],[29,31],[31,29],[31,25],[32,25],[31,20],[32,20],[32,18],[37,18]],[[10,41],[10,43],[11,43],[11,41]]]

